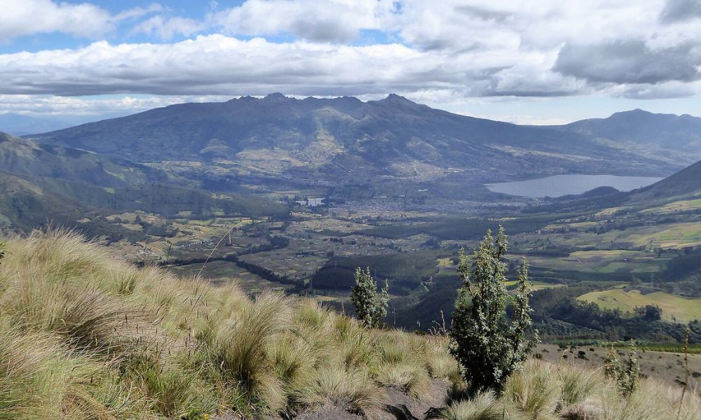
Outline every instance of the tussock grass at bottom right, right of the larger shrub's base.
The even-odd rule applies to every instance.
[[[643,379],[640,388],[624,398],[600,370],[531,360],[524,370],[509,379],[501,397],[486,393],[472,400],[458,398],[442,411],[442,417],[449,420],[701,420],[700,397],[698,391],[686,393],[679,409],[681,388]]]

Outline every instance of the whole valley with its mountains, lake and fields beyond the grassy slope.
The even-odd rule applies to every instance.
[[[665,141],[631,147],[634,122],[657,114],[611,118],[618,131],[608,120],[526,127],[397,95],[168,106],[4,137],[13,188],[56,204],[13,193],[0,223],[76,228],[139,266],[339,311],[352,306],[355,268],[370,267],[390,286],[386,323],[411,330],[450,321],[458,251],[503,225],[511,273],[529,262],[534,319],[550,342],[679,342],[686,325],[699,339],[701,164],[683,169]],[[684,135],[695,144],[694,130]],[[78,170],[95,165],[104,176]],[[661,315],[644,320],[646,307]]]

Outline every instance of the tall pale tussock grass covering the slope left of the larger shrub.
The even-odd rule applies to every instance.
[[[451,371],[430,339],[368,330],[312,300],[137,269],[72,232],[6,243],[0,419],[260,418],[327,404],[369,415],[383,385],[418,395]]]

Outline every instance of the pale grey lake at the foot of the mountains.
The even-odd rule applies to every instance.
[[[494,193],[540,198],[581,194],[599,187],[630,191],[649,186],[661,179],[654,176],[554,175],[529,181],[493,183],[485,186]]]

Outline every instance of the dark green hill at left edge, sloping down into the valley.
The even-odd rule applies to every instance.
[[[236,194],[213,197],[196,187],[191,181],[122,158],[0,133],[0,227],[12,225],[28,232],[55,223],[95,232],[78,221],[97,210],[100,214],[141,210],[168,216],[189,211],[203,217],[217,212],[275,218],[288,214],[281,203]]]

